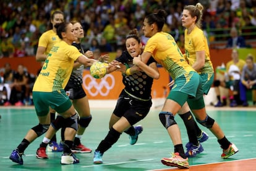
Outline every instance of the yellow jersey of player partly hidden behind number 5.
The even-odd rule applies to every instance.
[[[45,54],[48,55],[53,45],[56,44],[56,42],[60,42],[60,41],[61,39],[53,30],[48,30],[41,35],[38,42],[38,47],[39,46],[45,47],[46,48]]]

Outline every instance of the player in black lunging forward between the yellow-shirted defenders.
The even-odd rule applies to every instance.
[[[143,130],[141,125],[135,127],[133,125],[147,116],[152,105],[151,86],[153,79],[158,79],[160,75],[153,58],[148,60],[147,65],[151,67],[151,70],[157,72],[137,72],[138,68],[132,64],[132,60],[140,54],[142,54],[142,43],[137,30],[132,30],[126,37],[126,51],[110,63],[113,66],[117,64],[120,66],[116,71],[122,72],[122,83],[125,87],[120,93],[116,108],[110,117],[108,135],[95,150],[93,159],[95,164],[103,163],[103,153],[116,143],[122,132],[129,134],[130,144],[134,145],[139,133]]]

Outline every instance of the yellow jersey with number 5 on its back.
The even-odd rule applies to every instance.
[[[33,91],[53,92],[66,87],[74,66],[74,61],[82,54],[64,41],[56,43],[48,54],[35,81]]]

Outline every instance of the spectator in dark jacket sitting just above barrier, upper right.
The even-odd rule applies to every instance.
[[[230,30],[230,38],[226,44],[226,48],[241,48],[246,47],[245,40],[242,36],[239,36],[235,27]]]

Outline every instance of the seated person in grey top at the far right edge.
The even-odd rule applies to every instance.
[[[256,89],[256,63],[254,63],[252,54],[247,55],[245,62],[246,65],[242,69],[241,82],[239,84],[242,106],[248,106],[246,91]]]

